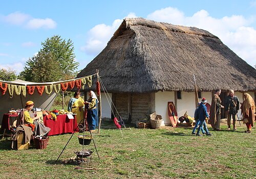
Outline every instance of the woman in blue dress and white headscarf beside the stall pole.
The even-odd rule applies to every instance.
[[[89,92],[89,96],[90,98],[84,102],[84,104],[86,104],[87,109],[87,122],[89,130],[95,131],[96,126],[98,126],[98,99],[93,91]]]

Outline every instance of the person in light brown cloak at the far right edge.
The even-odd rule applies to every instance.
[[[251,127],[253,127],[255,103],[248,93],[244,94],[244,102],[242,103],[241,109],[243,114],[243,120],[247,127],[247,130],[245,130],[245,132],[250,133]]]

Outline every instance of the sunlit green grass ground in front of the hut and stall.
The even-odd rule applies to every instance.
[[[89,168],[75,169],[75,151],[82,150],[75,133],[51,136],[46,149],[12,150],[10,138],[0,140],[1,178],[255,178],[255,133],[238,130],[212,131],[212,136],[193,136],[192,128],[125,128],[122,133],[109,124],[93,133],[94,149]],[[127,127],[127,126],[126,126]],[[123,137],[122,137],[123,134]],[[86,164],[82,165],[86,168]]]

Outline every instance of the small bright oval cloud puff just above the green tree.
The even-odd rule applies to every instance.
[[[33,18],[29,20],[26,25],[26,27],[29,29],[39,29],[39,28],[54,29],[56,28],[56,26],[57,24],[51,18],[46,18],[46,19]]]

